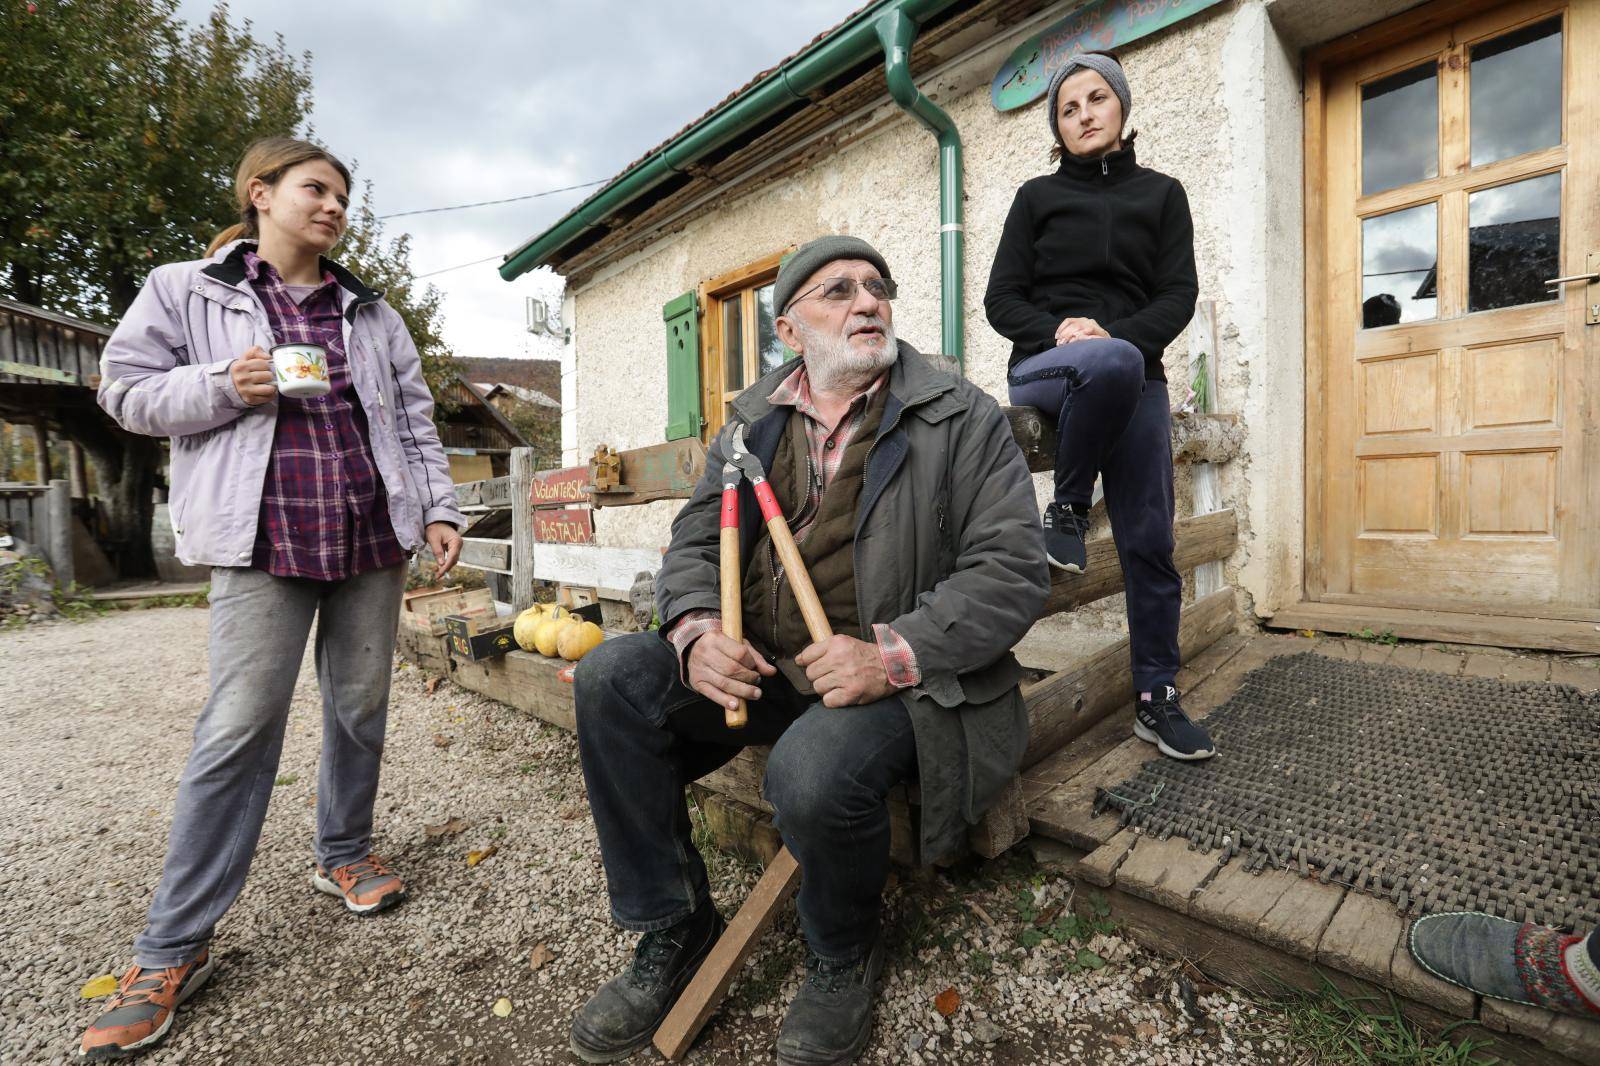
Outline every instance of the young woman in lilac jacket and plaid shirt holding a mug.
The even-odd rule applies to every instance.
[[[211,695],[133,965],[85,1031],[85,1058],[154,1047],[211,975],[206,944],[261,836],[314,619],[312,884],[355,914],[405,898],[371,853],[394,634],[411,552],[426,546],[450,570],[462,517],[405,323],[326,258],[349,187],[315,144],[253,144],[235,182],[242,221],[208,258],[154,269],[106,346],[101,407],[171,439],[178,554],[213,567]],[[294,367],[328,387],[291,387]]]

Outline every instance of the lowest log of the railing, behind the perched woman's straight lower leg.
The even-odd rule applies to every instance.
[[[1182,659],[1200,655],[1234,631],[1234,591],[1222,589],[1184,608],[1178,624]],[[1027,703],[1027,752],[1030,767],[1128,703],[1133,677],[1128,642],[1118,640],[1022,690]]]

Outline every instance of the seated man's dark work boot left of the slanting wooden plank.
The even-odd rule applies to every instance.
[[[672,1002],[728,927],[710,903],[670,928],[645,933],[634,962],[573,1016],[573,1055],[614,1063],[650,1044]]]

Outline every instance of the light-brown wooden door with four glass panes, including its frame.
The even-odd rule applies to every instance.
[[[1600,0],[1472,8],[1314,101],[1307,594],[1600,618]]]

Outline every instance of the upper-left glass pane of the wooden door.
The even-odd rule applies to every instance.
[[[1362,194],[1438,178],[1438,64],[1362,86]]]

